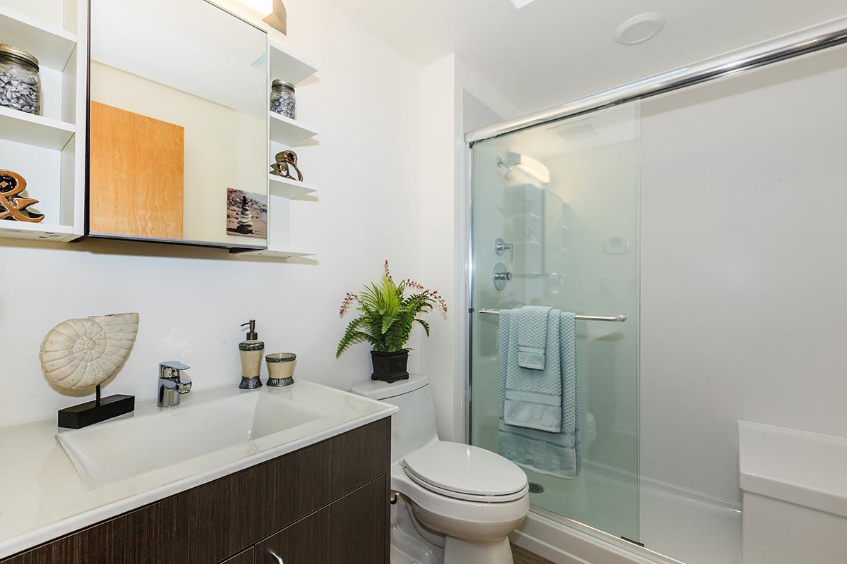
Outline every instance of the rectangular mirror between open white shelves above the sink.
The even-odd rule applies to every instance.
[[[91,236],[267,246],[267,53],[206,0],[91,0]]]

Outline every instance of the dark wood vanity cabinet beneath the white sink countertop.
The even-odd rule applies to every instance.
[[[388,564],[389,464],[381,419],[0,564]]]

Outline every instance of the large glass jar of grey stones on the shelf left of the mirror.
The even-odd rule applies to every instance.
[[[4,43],[0,43],[0,106],[36,115],[42,112],[38,59]]]

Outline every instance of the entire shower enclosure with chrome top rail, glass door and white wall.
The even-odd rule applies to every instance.
[[[468,437],[501,452],[500,312],[575,313],[578,472],[553,434],[524,464],[562,531],[738,564],[737,421],[844,434],[816,419],[843,348],[844,43],[847,19],[468,135]]]

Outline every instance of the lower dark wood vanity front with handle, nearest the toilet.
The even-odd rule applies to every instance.
[[[255,564],[376,564],[388,562],[388,515],[381,476],[263,540]]]

